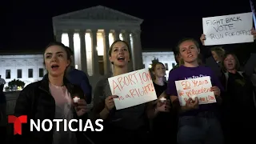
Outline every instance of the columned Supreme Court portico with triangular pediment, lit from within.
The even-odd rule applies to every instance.
[[[53,27],[56,40],[74,51],[73,65],[97,78],[112,72],[108,50],[117,39],[130,44],[131,69],[143,68],[142,21],[105,6],[94,6],[54,17]]]

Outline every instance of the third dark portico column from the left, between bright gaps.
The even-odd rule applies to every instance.
[[[86,62],[86,30],[80,30],[80,61],[81,66],[78,66],[80,70],[84,71],[87,74],[87,62]]]

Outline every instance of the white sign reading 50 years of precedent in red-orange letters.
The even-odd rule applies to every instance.
[[[212,85],[209,76],[175,81],[175,85],[181,106],[185,106],[189,98],[195,97],[198,97],[199,105],[216,102],[214,92],[210,91]]]

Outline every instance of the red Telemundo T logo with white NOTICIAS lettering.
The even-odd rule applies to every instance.
[[[72,127],[73,122],[78,123],[78,128]],[[90,119],[86,120],[86,124],[83,126],[83,121],[82,119],[71,119],[70,121],[66,119],[44,119],[41,120],[38,119],[37,122],[35,122],[33,119],[30,119],[30,131],[50,131],[53,129],[54,124],[56,124],[56,131],[60,131],[60,125],[62,124],[64,129],[63,131],[86,131],[87,129],[90,129],[91,131],[102,131],[103,130],[103,125],[102,125],[103,120],[102,119],[97,119],[95,121],[95,125],[98,126],[98,128],[94,129],[93,123],[90,121]],[[19,117],[16,117],[14,115],[9,115],[8,116],[8,123],[13,123],[14,124],[14,135],[15,134],[20,134],[22,135],[22,124],[27,123],[27,116],[26,115],[21,115]],[[46,124],[48,127],[46,127]]]

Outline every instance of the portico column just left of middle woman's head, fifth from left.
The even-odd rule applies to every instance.
[[[105,30],[103,33],[103,40],[104,40],[104,56],[103,56],[103,62],[104,62],[104,74],[110,74],[110,56],[109,56],[109,50],[110,50],[110,30]]]

